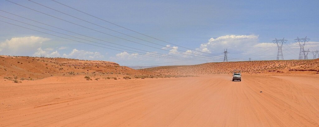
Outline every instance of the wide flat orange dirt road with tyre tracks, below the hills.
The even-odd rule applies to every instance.
[[[0,126],[319,126],[315,77],[42,79],[0,88]]]

